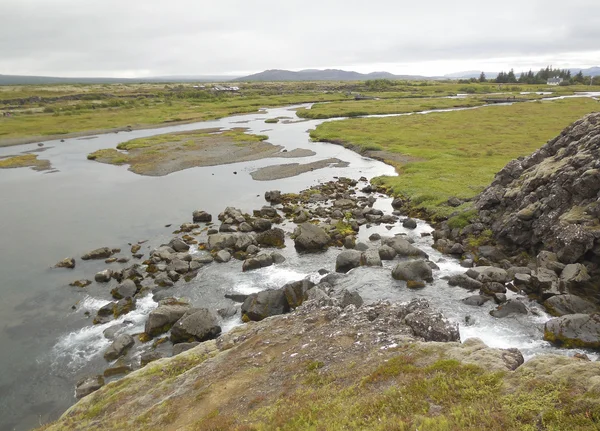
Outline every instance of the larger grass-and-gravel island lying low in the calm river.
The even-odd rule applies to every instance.
[[[267,136],[245,133],[246,129],[204,129],[135,139],[117,149],[98,150],[88,159],[113,165],[128,164],[140,175],[163,176],[200,166],[217,166],[269,157],[313,156],[308,149],[283,150],[266,142]],[[121,150],[121,151],[119,151]]]

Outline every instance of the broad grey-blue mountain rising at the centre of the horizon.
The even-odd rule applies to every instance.
[[[367,79],[427,79],[418,75],[393,75],[389,72],[358,73],[339,69],[305,69],[298,72],[271,69],[234,81],[365,81]]]

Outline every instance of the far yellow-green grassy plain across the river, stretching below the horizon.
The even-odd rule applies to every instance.
[[[307,118],[364,113],[401,113],[443,108],[468,101],[418,100],[466,93],[483,95],[502,92],[548,90],[546,86],[458,84],[456,82],[366,81],[366,82],[275,82],[239,83],[238,92],[214,91],[211,84],[112,84],[0,86],[0,145],[23,138],[41,138],[90,131],[144,128],[164,123],[211,120],[304,102],[339,102],[317,105]],[[590,90],[589,87],[557,87],[557,94]],[[384,100],[354,101],[357,94]],[[535,96],[532,96],[535,97]],[[404,99],[404,100],[397,100]],[[312,115],[317,115],[313,117]]]

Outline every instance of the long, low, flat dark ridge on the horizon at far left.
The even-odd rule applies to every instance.
[[[232,76],[157,76],[150,78],[64,78],[54,76],[0,75],[0,85],[42,84],[136,84],[136,83],[181,83],[181,82],[225,82]]]

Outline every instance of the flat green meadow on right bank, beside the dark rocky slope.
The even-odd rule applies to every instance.
[[[508,161],[529,155],[571,122],[598,110],[600,104],[592,99],[538,101],[328,122],[311,137],[357,151],[388,151],[419,159],[396,165],[399,176],[375,182],[409,198],[415,210],[440,219],[455,211],[445,205],[448,198],[476,195]]]

